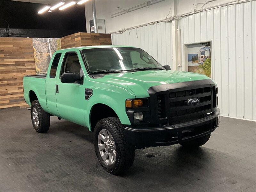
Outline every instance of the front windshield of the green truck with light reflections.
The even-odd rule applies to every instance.
[[[111,47],[82,50],[91,73],[164,69],[139,48]]]

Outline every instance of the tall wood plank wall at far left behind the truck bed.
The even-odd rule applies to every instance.
[[[36,74],[32,38],[0,37],[0,108],[27,107],[23,76]]]

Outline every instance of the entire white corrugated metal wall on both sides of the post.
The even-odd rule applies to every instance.
[[[172,66],[170,23],[113,34],[116,45],[138,46]],[[212,79],[219,86],[224,116],[256,120],[256,1],[196,13],[179,20],[182,69],[184,44],[212,41]]]

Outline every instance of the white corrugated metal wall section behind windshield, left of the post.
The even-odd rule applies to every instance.
[[[172,22],[161,22],[112,34],[113,45],[139,47],[162,65],[172,68]]]

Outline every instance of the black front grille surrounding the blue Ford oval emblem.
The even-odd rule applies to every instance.
[[[180,123],[205,117],[218,106],[216,89],[210,79],[150,87],[151,123],[174,125],[175,121]],[[199,103],[189,104],[189,99],[197,99]]]

